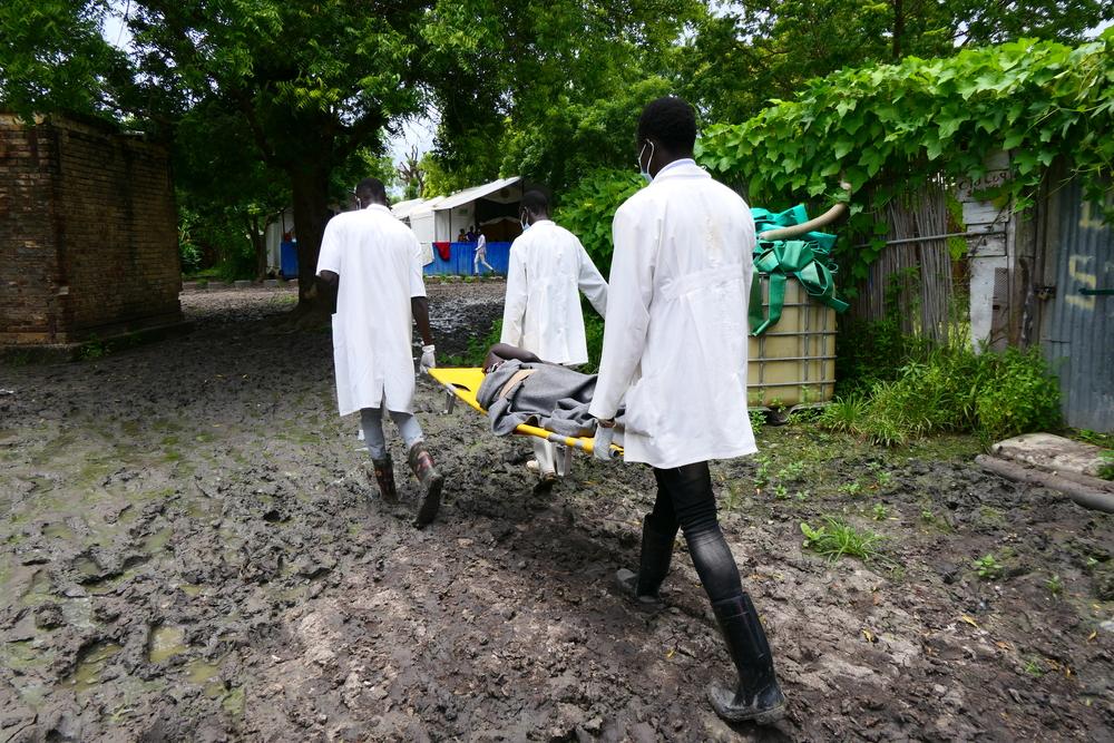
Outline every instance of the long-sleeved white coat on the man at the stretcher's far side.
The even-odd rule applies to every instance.
[[[588,361],[580,296],[600,315],[607,282],[576,235],[540,219],[510,246],[501,342],[558,364]]]

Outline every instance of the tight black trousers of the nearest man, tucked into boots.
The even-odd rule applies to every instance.
[[[654,530],[673,536],[678,528],[683,531],[693,565],[713,603],[742,594],[739,567],[716,519],[707,462],[672,469],[655,467],[654,477],[657,500],[648,517]]]

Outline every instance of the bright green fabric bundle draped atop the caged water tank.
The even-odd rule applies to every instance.
[[[809,221],[804,205],[800,204],[781,214],[752,208],[756,234],[768,229],[792,227]],[[785,282],[793,276],[809,296],[822,304],[843,312],[848,304],[836,299],[836,262],[831,250],[836,246],[836,235],[810,232],[799,239],[759,239],[754,246],[754,278],[751,282],[750,324],[751,335],[761,335],[781,320],[785,303]],[[770,276],[770,314],[762,309],[762,284],[759,274]]]

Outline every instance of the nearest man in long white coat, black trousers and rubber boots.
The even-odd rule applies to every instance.
[[[654,468],[657,499],[643,521],[637,575],[619,585],[659,603],[680,528],[712,602],[734,688],[709,698],[730,721],[769,723],[783,713],[765,633],[743,590],[716,519],[707,462],[753,453],[746,411],[746,299],[754,221],[742,198],[693,160],[696,120],[680,98],[659,98],[638,120],[638,168],[651,185],[613,223],[604,351],[589,411],[597,451],[625,401],[626,461]]]

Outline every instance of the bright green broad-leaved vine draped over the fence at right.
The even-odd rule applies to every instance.
[[[852,189],[844,232],[866,236],[877,235],[874,215],[893,198],[940,176],[978,178],[998,150],[1012,151],[1012,178],[989,197],[1028,206],[1047,167],[1063,157],[1101,201],[1100,176],[1114,168],[1112,47],[1107,30],[1075,49],[1027,39],[841,70],[745,124],[707,128],[697,157],[720,177],[747,183],[764,203],[847,199],[842,176]],[[882,242],[844,247],[841,273],[866,278]]]

